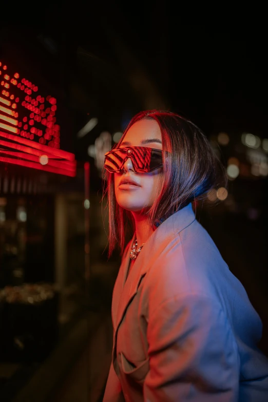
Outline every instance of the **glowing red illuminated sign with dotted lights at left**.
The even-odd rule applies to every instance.
[[[74,177],[74,155],[60,149],[57,101],[0,61],[0,162]]]

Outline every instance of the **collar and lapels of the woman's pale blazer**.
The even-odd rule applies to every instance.
[[[133,264],[131,271],[126,279],[130,261],[130,250],[135,236],[133,236],[131,242],[128,243],[128,250],[126,250],[124,254],[119,272],[119,275],[121,276],[119,286],[121,286],[120,291],[122,291],[122,293],[121,296],[117,295],[118,303],[115,303],[114,306],[117,311],[113,312],[115,325],[113,345],[116,345],[118,327],[122,321],[127,306],[133,296],[135,296],[135,294],[137,293],[142,278],[144,277],[144,275],[146,275],[147,270],[151,266],[150,262],[155,260],[157,256],[165,249],[170,241],[170,238],[174,238],[176,234],[181,232],[194,220],[195,213],[193,212],[192,204],[188,204],[187,206],[167,218],[146,241],[139,254],[139,257],[135,261],[135,264]]]

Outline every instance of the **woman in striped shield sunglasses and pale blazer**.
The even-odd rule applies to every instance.
[[[105,155],[109,255],[125,247],[112,296],[104,402],[268,400],[262,323],[192,202],[217,186],[203,133],[175,113],[144,111]]]

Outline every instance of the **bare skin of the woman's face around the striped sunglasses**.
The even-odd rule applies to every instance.
[[[162,149],[161,130],[155,120],[142,119],[133,124],[127,131],[120,147],[145,146]],[[140,212],[150,207],[158,195],[159,183],[163,177],[163,169],[150,173],[136,173],[131,159],[124,163],[120,173],[114,173],[114,190],[118,204],[131,212]],[[122,179],[131,179],[138,185],[120,184]]]

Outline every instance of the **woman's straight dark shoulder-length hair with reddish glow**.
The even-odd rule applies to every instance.
[[[161,110],[141,111],[126,127],[116,147],[120,146],[128,129],[141,119],[154,119],[159,124],[163,146],[163,181],[159,195],[146,210],[153,229],[160,219],[166,219],[219,185],[226,185],[226,174],[221,162],[203,132],[192,122],[176,113]],[[168,157],[166,152],[169,151]],[[114,192],[114,174],[105,171],[109,208],[108,257],[119,244],[121,255],[126,243],[127,225],[135,228],[131,212],[119,206]]]

